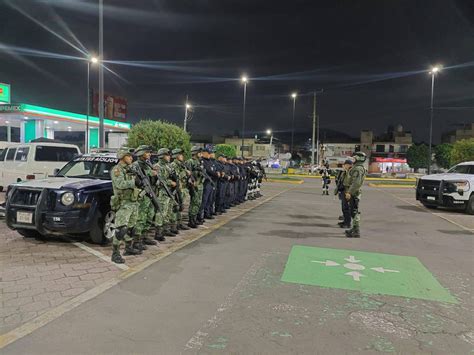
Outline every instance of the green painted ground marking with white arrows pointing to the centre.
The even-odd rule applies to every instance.
[[[281,281],[458,303],[412,256],[295,245]]]

